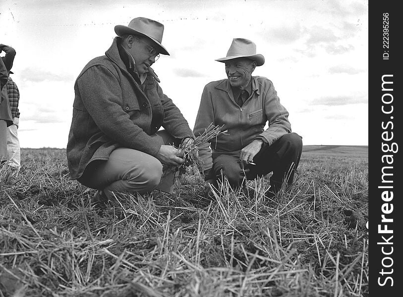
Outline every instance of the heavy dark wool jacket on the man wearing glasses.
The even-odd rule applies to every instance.
[[[161,144],[150,137],[162,126],[174,138],[194,137],[173,101],[148,74],[144,91],[127,71],[116,37],[110,49],[91,60],[75,85],[73,117],[67,143],[71,179],[93,160],[107,160],[119,147],[156,156]]]

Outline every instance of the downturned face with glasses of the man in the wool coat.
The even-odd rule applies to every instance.
[[[151,42],[144,37],[129,35],[125,40],[126,49],[133,57],[136,64],[136,72],[139,75],[148,71],[148,67],[155,62],[156,56],[159,54],[150,44]]]

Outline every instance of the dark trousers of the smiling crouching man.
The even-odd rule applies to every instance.
[[[226,176],[232,188],[242,186],[245,178],[253,180],[273,171],[270,184],[276,192],[283,182],[291,184],[302,153],[302,138],[296,133],[283,135],[271,146],[264,146],[253,158],[256,165],[242,168],[239,155],[221,154],[213,159],[217,180]]]

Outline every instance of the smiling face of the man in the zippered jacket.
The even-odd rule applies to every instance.
[[[256,62],[247,58],[236,58],[225,62],[225,70],[232,87],[244,89],[252,78]]]

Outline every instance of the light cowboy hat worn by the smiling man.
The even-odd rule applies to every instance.
[[[256,61],[256,66],[262,66],[265,63],[265,57],[260,53],[256,53],[256,45],[245,38],[234,38],[227,56],[224,58],[216,59],[216,61],[225,63],[228,60],[236,58],[248,58]]]

